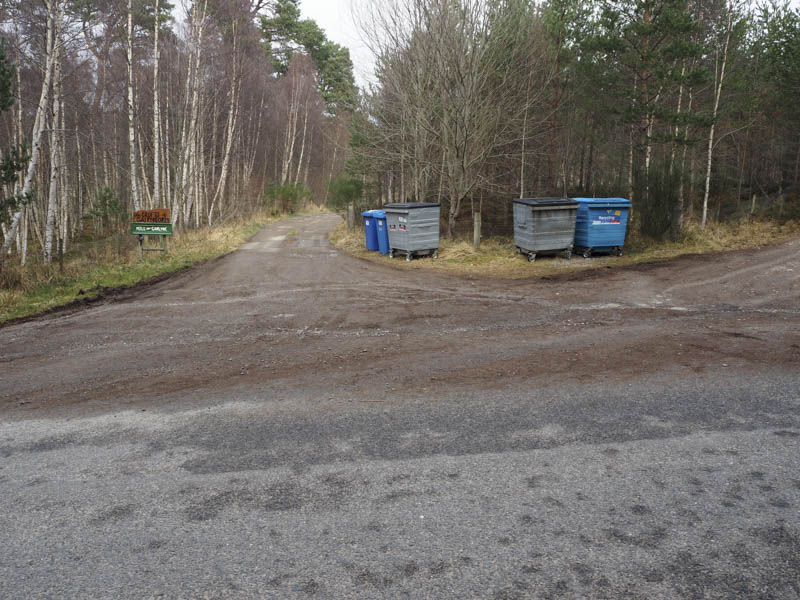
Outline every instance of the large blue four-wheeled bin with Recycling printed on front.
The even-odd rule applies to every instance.
[[[573,198],[578,203],[575,219],[575,251],[589,258],[594,253],[622,256],[631,201],[626,198]]]

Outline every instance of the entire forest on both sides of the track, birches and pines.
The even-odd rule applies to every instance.
[[[346,17],[343,17],[346,18]],[[298,0],[0,5],[2,261],[169,208],[176,230],[315,203],[623,196],[637,233],[800,216],[800,12],[750,0],[363,0],[376,61]]]

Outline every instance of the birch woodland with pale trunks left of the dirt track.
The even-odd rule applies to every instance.
[[[0,32],[6,260],[139,209],[198,228],[324,202],[344,169],[349,51],[292,0],[16,0]]]

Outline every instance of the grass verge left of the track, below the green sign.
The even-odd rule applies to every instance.
[[[222,256],[280,218],[264,214],[210,229],[181,230],[171,236],[168,252],[146,252],[143,260],[135,237],[123,233],[119,242],[111,238],[80,244],[64,257],[63,272],[56,262],[32,260],[20,267],[8,261],[0,273],[0,324]]]

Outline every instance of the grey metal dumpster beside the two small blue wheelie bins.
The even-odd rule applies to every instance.
[[[439,255],[438,202],[395,202],[383,207],[389,228],[389,258],[395,253],[414,256]]]

